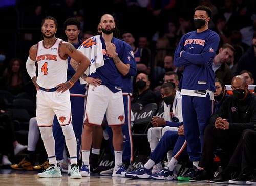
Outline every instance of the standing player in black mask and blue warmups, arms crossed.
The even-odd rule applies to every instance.
[[[217,33],[208,29],[211,15],[206,6],[195,8],[194,24],[197,30],[182,36],[174,56],[174,65],[184,66],[179,84],[184,132],[189,158],[196,167],[201,157],[204,128],[212,114],[215,91],[212,60],[220,39]]]

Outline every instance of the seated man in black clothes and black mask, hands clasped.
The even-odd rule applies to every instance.
[[[217,146],[224,152],[226,160],[234,153],[241,134],[256,125],[256,97],[248,91],[248,84],[241,75],[232,79],[233,96],[229,96],[221,108],[212,115],[204,131],[203,153],[190,181],[205,182],[213,178],[212,164]],[[222,164],[228,162],[222,160]]]

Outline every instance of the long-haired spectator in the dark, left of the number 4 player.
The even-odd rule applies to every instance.
[[[28,82],[28,78],[23,71],[23,62],[19,58],[13,58],[10,66],[4,72],[6,90],[13,95],[25,91],[24,86]]]

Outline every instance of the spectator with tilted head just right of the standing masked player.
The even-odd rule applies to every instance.
[[[215,78],[221,79],[225,85],[231,83],[231,69],[226,63],[234,59],[234,52],[236,52],[234,47],[226,43],[219,49],[219,54],[214,57],[212,68],[215,72]]]

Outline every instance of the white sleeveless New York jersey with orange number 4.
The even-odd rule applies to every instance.
[[[38,63],[37,84],[46,89],[67,81],[68,60],[59,55],[59,44],[63,40],[57,38],[55,43],[46,48],[44,41],[37,44],[36,61]]]

